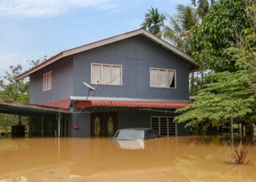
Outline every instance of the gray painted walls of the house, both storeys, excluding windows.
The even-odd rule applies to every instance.
[[[30,102],[47,103],[70,95],[86,96],[88,89],[83,82],[91,84],[91,63],[122,65],[122,85],[98,85],[97,90],[91,92],[94,97],[189,100],[188,63],[144,36],[134,36],[62,58],[31,74]],[[176,89],[151,88],[150,68],[176,70]],[[48,71],[53,71],[52,90],[42,91],[42,75]],[[158,115],[168,116],[149,111],[118,111],[118,128],[150,127],[150,117]],[[80,125],[79,129],[73,128],[75,123]],[[181,132],[188,131],[179,124],[178,134],[182,135]],[[90,136],[91,114],[71,114],[68,133],[69,136]]]

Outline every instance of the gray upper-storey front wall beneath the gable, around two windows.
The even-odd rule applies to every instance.
[[[87,95],[83,82],[91,83],[91,63],[123,66],[123,85],[99,85],[95,97],[189,100],[187,62],[143,36],[135,36],[74,55],[74,96]],[[151,88],[149,68],[175,69],[177,88]]]

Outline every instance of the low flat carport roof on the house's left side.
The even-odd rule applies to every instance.
[[[22,116],[34,116],[42,114],[69,113],[68,108],[42,106],[34,103],[24,103],[13,100],[0,100],[1,114],[16,114]]]

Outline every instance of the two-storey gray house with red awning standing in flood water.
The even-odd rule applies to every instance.
[[[60,52],[17,79],[29,76],[30,103],[62,110],[34,114],[30,135],[111,136],[127,127],[160,135],[187,135],[173,122],[189,105],[192,57],[138,29]]]

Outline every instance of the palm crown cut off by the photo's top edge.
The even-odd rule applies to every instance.
[[[214,2],[217,0],[191,0],[192,5],[197,7],[198,15],[200,15],[201,18],[203,18],[207,13],[208,10]]]

